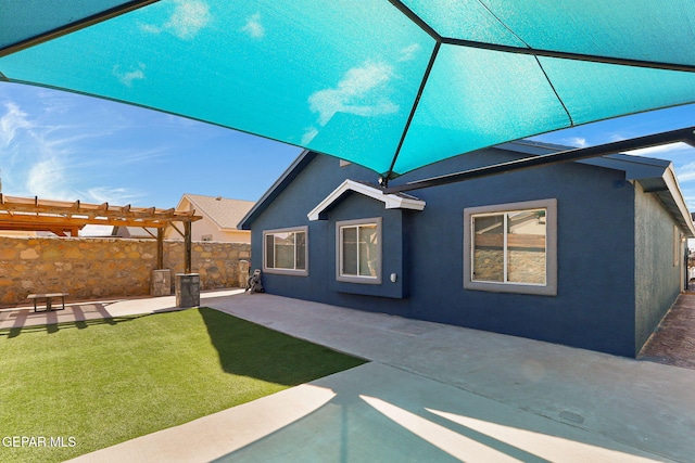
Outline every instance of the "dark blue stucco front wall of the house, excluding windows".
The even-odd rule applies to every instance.
[[[429,166],[397,182],[515,158],[489,150]],[[566,164],[413,192],[422,211],[387,210],[383,203],[349,194],[309,222],[306,214],[345,178],[377,175],[317,156],[253,222],[252,258],[261,268],[263,230],[308,226],[308,276],[264,275],[269,293],[489,330],[622,356],[634,352],[633,187],[624,173]],[[557,200],[557,296],[465,290],[464,209]],[[380,288],[344,291],[336,280],[334,222],[383,218]],[[396,282],[390,274],[397,274]]]

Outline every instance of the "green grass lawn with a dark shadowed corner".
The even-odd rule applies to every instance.
[[[63,461],[362,363],[208,308],[3,330],[0,461]]]

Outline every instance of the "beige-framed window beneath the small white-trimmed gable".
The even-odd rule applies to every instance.
[[[336,222],[336,278],[381,283],[381,218]]]

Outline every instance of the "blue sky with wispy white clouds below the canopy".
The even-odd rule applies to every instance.
[[[535,140],[586,146],[687,127],[695,105],[561,130]],[[186,118],[0,82],[2,192],[85,203],[174,207],[184,193],[256,201],[301,149]],[[639,153],[673,162],[695,211],[695,149]]]

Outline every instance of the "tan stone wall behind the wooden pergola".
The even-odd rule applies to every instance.
[[[248,278],[251,246],[194,242],[191,270],[201,290],[241,287]],[[67,292],[70,299],[150,294],[156,266],[153,240],[92,237],[1,237],[0,305],[27,303],[30,293]],[[164,242],[164,267],[184,272],[184,243]]]

